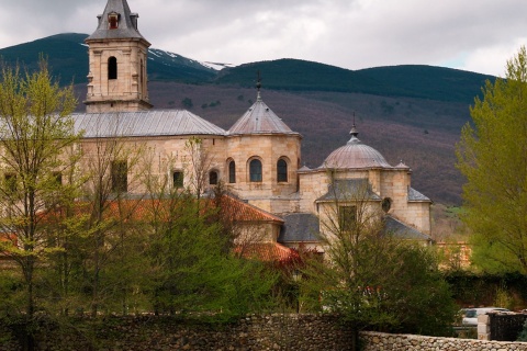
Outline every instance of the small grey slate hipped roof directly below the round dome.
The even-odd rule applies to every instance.
[[[356,178],[335,180],[333,184],[329,184],[327,193],[318,197],[316,201],[327,202],[354,200],[380,201],[381,197],[371,190],[368,179]]]

